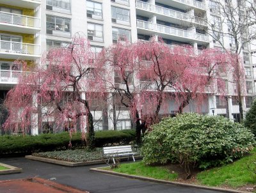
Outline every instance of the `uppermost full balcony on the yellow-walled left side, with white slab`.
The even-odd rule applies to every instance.
[[[0,12],[0,27],[5,31],[35,34],[40,31],[40,26],[39,18]]]

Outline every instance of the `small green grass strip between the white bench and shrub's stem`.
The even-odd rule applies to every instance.
[[[161,166],[145,166],[143,162],[134,162],[131,164],[120,164],[120,167],[113,169],[118,173],[131,174],[136,176],[145,176],[161,180],[175,180],[176,173],[170,173],[168,169]]]

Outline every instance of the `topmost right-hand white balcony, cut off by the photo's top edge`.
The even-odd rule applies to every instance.
[[[205,3],[195,0],[156,0],[157,3],[166,4],[175,8],[180,8],[184,10],[189,10],[193,8],[195,10],[205,10],[206,6]]]

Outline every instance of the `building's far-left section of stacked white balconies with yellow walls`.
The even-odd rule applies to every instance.
[[[17,59],[35,65],[41,57],[40,0],[0,1],[0,104],[15,84],[24,66]],[[0,109],[0,126],[6,118]]]

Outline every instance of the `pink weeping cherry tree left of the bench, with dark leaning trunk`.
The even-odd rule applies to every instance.
[[[104,83],[99,78],[102,69],[97,67],[94,56],[90,43],[78,33],[67,47],[47,52],[42,64],[23,74],[9,91],[5,101],[9,116],[4,127],[19,123],[26,129],[46,119],[63,127],[63,122],[77,123],[79,119],[86,143],[93,148],[90,102],[95,93],[104,95]]]

